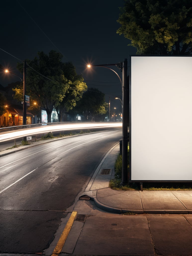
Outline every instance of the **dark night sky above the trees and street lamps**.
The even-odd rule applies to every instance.
[[[1,2],[0,64],[13,73],[17,62],[34,59],[38,51],[60,51],[63,62],[71,61],[88,88],[95,87],[109,97],[111,106],[120,108],[121,84],[111,70],[86,65],[118,63],[135,54],[129,40],[116,31],[123,0],[10,0]],[[4,52],[4,51],[6,52]],[[9,54],[11,55],[9,55]],[[121,71],[112,66],[119,76]],[[20,75],[22,77],[22,74]],[[0,84],[17,81],[0,71]]]

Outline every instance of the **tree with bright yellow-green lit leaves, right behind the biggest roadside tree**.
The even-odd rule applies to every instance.
[[[64,76],[71,81],[68,91],[63,100],[58,104],[56,111],[59,116],[60,122],[64,121],[63,116],[76,106],[76,102],[82,98],[83,92],[87,90],[87,85],[83,82],[83,78],[78,76],[75,67],[71,62],[64,63],[63,68]]]

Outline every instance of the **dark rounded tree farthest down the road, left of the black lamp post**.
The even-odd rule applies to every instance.
[[[95,119],[98,115],[104,115],[107,110],[105,103],[105,94],[96,88],[90,88],[83,93],[82,99],[78,102],[78,109],[87,121]]]

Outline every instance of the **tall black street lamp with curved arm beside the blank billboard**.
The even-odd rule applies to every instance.
[[[108,66],[116,66],[122,70],[122,80],[118,73]],[[101,64],[101,65],[87,65],[88,68],[91,67],[103,67],[112,70],[119,78],[122,86],[122,179],[121,185],[126,185],[128,182],[127,174],[127,147],[128,147],[128,136],[127,136],[127,100],[126,100],[126,80],[127,80],[127,59],[120,63],[115,64]]]

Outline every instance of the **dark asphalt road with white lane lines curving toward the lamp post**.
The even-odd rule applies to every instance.
[[[68,137],[1,157],[0,252],[48,248],[67,208],[121,135],[116,129]]]

